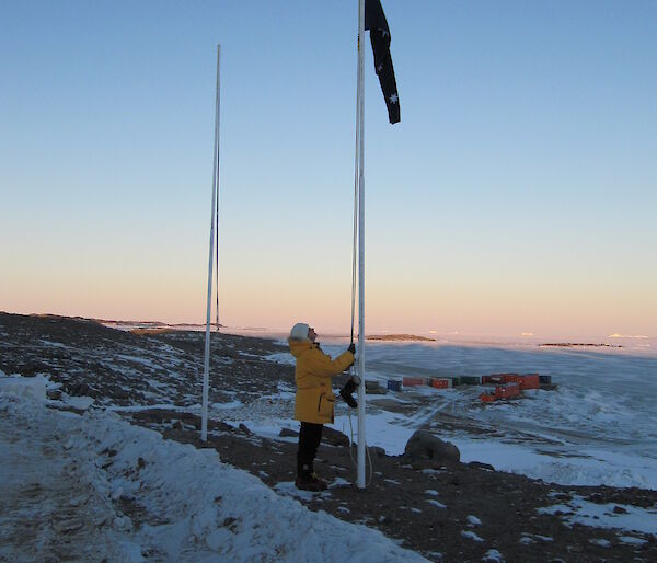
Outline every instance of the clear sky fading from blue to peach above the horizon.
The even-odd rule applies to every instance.
[[[383,8],[368,326],[656,335],[657,2]],[[1,2],[0,309],[204,320],[221,43],[223,319],[348,330],[356,15]]]

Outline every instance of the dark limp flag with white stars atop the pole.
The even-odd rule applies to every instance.
[[[370,31],[374,69],[388,107],[388,118],[391,124],[399,123],[400,96],[390,56],[390,28],[380,0],[365,0],[365,28]]]

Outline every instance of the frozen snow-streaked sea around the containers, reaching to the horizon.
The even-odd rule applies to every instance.
[[[347,342],[330,338],[323,349],[335,355]],[[557,384],[555,391],[527,391],[520,400],[486,406],[479,401],[481,387],[389,393],[387,398],[417,402],[417,410],[400,415],[368,407],[368,444],[399,455],[413,432],[428,427],[456,444],[466,462],[561,484],[656,490],[657,343],[642,338],[621,344],[368,342],[366,379],[378,379],[382,386],[403,376],[498,372],[539,372]],[[275,359],[292,363],[285,355]],[[468,424],[445,424],[453,417]],[[342,415],[335,425],[348,434],[356,422],[349,425]]]

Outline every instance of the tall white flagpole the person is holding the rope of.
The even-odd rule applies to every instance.
[[[358,0],[358,489],[365,489],[365,0]]]

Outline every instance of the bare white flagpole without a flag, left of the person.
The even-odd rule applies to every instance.
[[[221,45],[217,45],[217,93],[215,101],[215,151],[212,153],[212,207],[210,221],[210,252],[208,260],[208,310],[206,317],[206,345],[203,370],[203,402],[200,407],[200,439],[208,437],[208,388],[210,379],[210,315],[212,309],[212,262],[215,257],[215,207],[219,192],[219,60]]]

